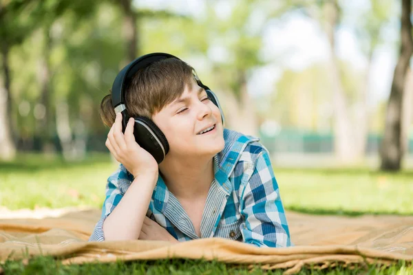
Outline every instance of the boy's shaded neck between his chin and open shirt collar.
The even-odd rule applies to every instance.
[[[213,157],[167,157],[159,164],[159,170],[169,191],[178,199],[206,196],[214,178]]]

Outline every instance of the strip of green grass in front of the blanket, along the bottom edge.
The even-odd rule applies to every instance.
[[[84,265],[62,265],[50,256],[36,257],[27,263],[6,261],[5,274],[282,274],[285,270],[262,270],[255,265],[228,265],[218,261],[165,259],[158,261],[131,261],[116,263],[86,263]],[[1,272],[0,272],[1,273]],[[395,263],[390,267],[379,265],[356,266],[354,270],[338,266],[327,270],[303,268],[298,274],[413,274],[413,269],[405,263]]]

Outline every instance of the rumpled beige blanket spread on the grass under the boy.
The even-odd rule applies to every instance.
[[[288,269],[287,274],[304,265],[325,268],[337,263],[413,261],[413,217],[335,217],[287,212],[295,247],[255,248],[218,238],[174,245],[139,240],[87,243],[99,215],[100,210],[83,210],[56,218],[0,219],[0,261],[38,254],[59,256],[63,263],[203,258],[226,263],[262,263],[264,269]]]

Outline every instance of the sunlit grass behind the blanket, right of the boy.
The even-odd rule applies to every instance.
[[[284,206],[311,214],[413,214],[413,171],[275,170]]]

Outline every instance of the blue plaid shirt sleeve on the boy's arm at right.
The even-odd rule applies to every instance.
[[[270,248],[293,245],[278,184],[265,149],[257,156],[241,202],[240,213],[244,217],[241,232],[245,243]]]

